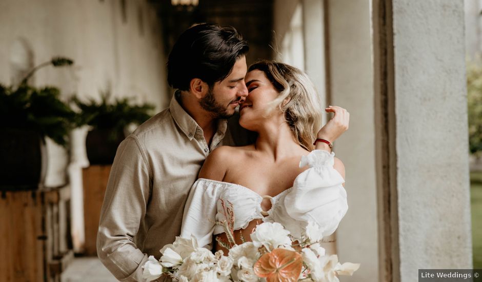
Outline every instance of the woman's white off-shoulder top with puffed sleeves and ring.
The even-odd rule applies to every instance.
[[[182,237],[196,237],[199,246],[211,248],[212,237],[225,230],[216,220],[226,220],[222,200],[234,210],[234,230],[245,229],[253,219],[282,224],[299,239],[308,222],[318,224],[323,236],[332,234],[348,210],[343,177],[333,168],[335,153],[314,150],[302,156],[299,167],[309,166],[294,180],[293,187],[270,197],[244,186],[199,178],[189,193],[181,228]],[[264,198],[271,209],[263,211]]]

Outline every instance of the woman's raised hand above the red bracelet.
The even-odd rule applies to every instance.
[[[328,120],[328,123],[318,131],[317,138],[325,139],[333,143],[334,140],[348,130],[350,113],[346,109],[337,106],[329,106],[325,111],[332,112],[334,115]]]

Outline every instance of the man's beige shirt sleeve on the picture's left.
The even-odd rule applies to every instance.
[[[148,259],[133,238],[146,215],[149,179],[142,150],[131,135],[117,148],[97,233],[97,255],[121,281],[141,281]]]

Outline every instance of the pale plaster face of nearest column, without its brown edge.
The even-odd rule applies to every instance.
[[[401,281],[472,268],[464,1],[394,0]]]

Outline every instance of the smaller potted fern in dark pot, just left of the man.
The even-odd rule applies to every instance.
[[[151,117],[152,104],[135,105],[131,97],[116,98],[109,102],[110,93],[101,93],[101,101],[89,99],[82,102],[73,97],[79,108],[77,126],[89,125],[86,138],[87,158],[91,165],[112,164],[118,145],[125,138],[126,127],[140,125]]]

